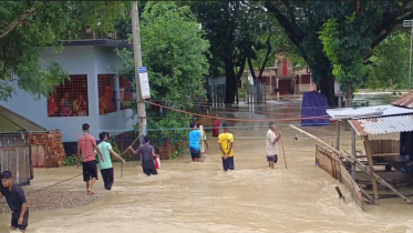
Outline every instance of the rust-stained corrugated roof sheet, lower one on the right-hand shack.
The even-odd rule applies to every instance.
[[[413,115],[349,120],[358,135],[376,135],[413,131]]]

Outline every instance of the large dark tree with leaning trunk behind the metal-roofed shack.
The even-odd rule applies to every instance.
[[[339,26],[342,26],[355,12],[354,20],[359,28],[347,23],[347,27],[338,27],[337,30],[338,34],[345,36],[345,38],[340,39],[349,40],[349,42],[344,41],[344,44],[351,45],[350,41],[354,41],[354,37],[359,38],[363,44],[369,44],[368,49],[362,48],[362,61],[358,60],[358,62],[365,64],[372,55],[372,50],[393,29],[404,19],[413,17],[410,1],[266,1],[265,7],[278,20],[292,43],[299,49],[299,53],[311,69],[314,82],[318,83],[321,93],[327,97],[330,105],[335,105],[333,93],[334,62],[326,54],[324,47],[319,38],[319,32],[323,30],[323,26],[332,19]],[[345,34],[345,31],[349,30],[351,33]],[[352,55],[359,57],[359,54],[351,54],[350,57]]]

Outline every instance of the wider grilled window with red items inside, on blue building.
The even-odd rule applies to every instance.
[[[54,87],[49,94],[48,116],[86,116],[89,115],[87,75],[70,75],[70,80]]]

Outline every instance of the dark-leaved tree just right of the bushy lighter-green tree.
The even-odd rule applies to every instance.
[[[246,1],[194,1],[192,8],[210,43],[209,73],[225,73],[225,101],[234,103],[247,61],[245,50],[251,45],[242,34],[245,27],[249,27],[244,23],[249,7]]]

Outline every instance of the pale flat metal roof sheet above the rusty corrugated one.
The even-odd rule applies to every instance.
[[[326,111],[331,116],[331,120],[348,120],[362,119],[373,116],[390,116],[401,114],[413,114],[412,109],[394,107],[394,105],[378,105],[378,107],[361,107],[361,108],[342,108],[329,109]]]

